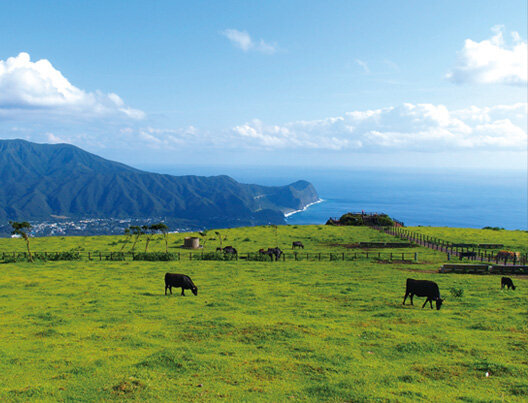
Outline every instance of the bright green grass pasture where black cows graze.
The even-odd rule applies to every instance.
[[[270,228],[224,232],[240,250],[275,243]],[[278,236],[320,251],[393,240],[324,226]],[[108,250],[121,238],[32,241]],[[506,291],[497,276],[438,274],[444,255],[420,250],[430,261],[3,264],[0,400],[526,401],[528,279]],[[167,271],[198,296],[163,295]],[[436,281],[442,309],[402,306],[408,277]]]

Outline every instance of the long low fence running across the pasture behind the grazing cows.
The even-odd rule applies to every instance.
[[[284,252],[279,259],[258,252],[238,254],[222,252],[33,252],[35,261],[418,261],[416,252]],[[0,252],[1,263],[28,261],[27,252]]]

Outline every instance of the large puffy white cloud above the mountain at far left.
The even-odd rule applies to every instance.
[[[86,92],[72,85],[46,59],[32,62],[29,54],[0,60],[0,118],[24,114],[75,118],[124,117],[144,113],[125,105],[116,94]]]

